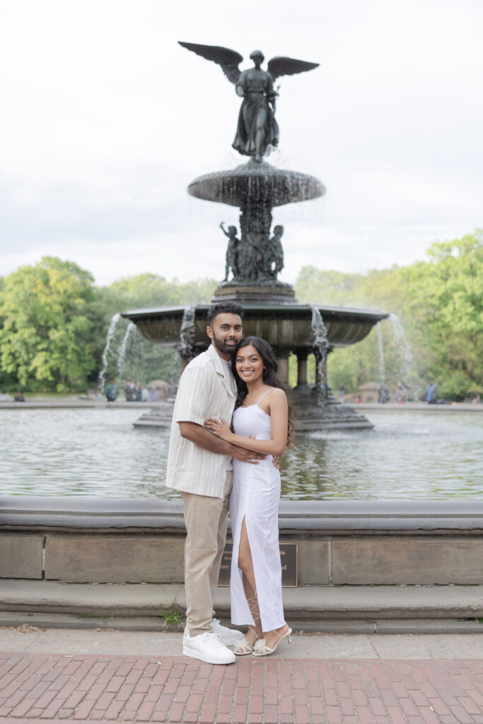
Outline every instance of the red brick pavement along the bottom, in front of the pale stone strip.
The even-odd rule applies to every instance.
[[[0,654],[1,724],[483,724],[483,661]]]

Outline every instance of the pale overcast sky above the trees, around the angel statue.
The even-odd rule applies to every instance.
[[[281,77],[280,148],[317,201],[274,210],[285,269],[365,271],[483,226],[482,0],[0,0],[0,274],[222,279],[231,206],[191,198],[240,99],[178,40],[319,62]]]

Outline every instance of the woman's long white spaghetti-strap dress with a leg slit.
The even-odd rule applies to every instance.
[[[270,390],[267,390],[265,395]],[[265,397],[263,395],[263,397]],[[271,437],[270,416],[259,403],[237,408],[233,413],[235,434],[266,440]],[[274,468],[272,455],[258,465],[233,458],[233,487],[230,493],[233,552],[230,578],[232,623],[254,625],[243,590],[242,571],[238,568],[240,532],[245,518],[250,543],[256,592],[259,599],[261,628],[272,631],[285,624],[282,605],[282,565],[278,540],[280,471]]]

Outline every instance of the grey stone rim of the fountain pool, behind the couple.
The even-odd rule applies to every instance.
[[[483,532],[483,500],[282,500],[280,534]],[[0,531],[168,531],[184,534],[181,500],[4,496]]]

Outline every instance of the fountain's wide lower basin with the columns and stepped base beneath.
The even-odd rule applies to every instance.
[[[206,311],[208,305],[199,304],[193,308],[193,322],[190,339],[190,355],[206,350]],[[350,309],[317,305],[315,307],[324,319],[327,329],[329,350],[348,347],[364,340],[374,324],[385,319],[387,314],[370,309]],[[161,345],[183,350],[180,345],[185,307],[160,307],[135,309],[122,316],[130,319],[146,339]],[[245,336],[262,337],[269,342],[277,355],[279,376],[288,383],[288,357],[294,353],[298,362],[298,384],[289,392],[290,402],[295,407],[296,429],[309,432],[323,429],[370,429],[369,420],[353,408],[341,405],[324,382],[317,379],[316,385],[307,384],[306,363],[308,354],[314,351],[314,330],[312,315],[314,306],[303,304],[245,304],[243,305],[243,332]],[[172,409],[159,408],[148,413],[136,423],[138,426],[167,426],[171,421]]]

